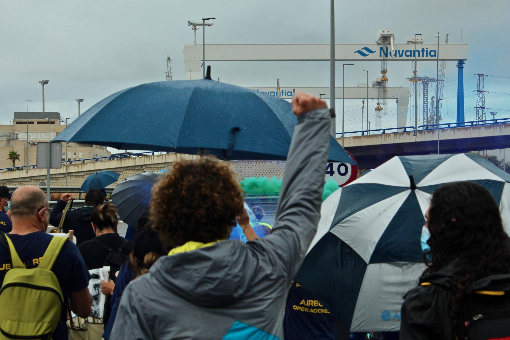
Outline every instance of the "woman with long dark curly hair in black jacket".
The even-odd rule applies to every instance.
[[[507,339],[509,238],[490,192],[471,182],[444,185],[425,217],[427,269],[405,296],[400,338]]]

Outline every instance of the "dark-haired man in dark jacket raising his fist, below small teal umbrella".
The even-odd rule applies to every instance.
[[[58,200],[55,207],[53,207],[52,213],[49,215],[49,223],[58,227],[62,219],[62,211],[64,211],[65,205],[70,199],[70,193],[64,193],[62,199]],[[69,230],[74,230],[77,246],[95,237],[90,222],[90,214],[92,214],[95,207],[103,204],[104,201],[105,195],[101,190],[91,189],[85,194],[84,207],[67,211],[64,223],[62,224],[62,230],[65,233],[69,232]]]

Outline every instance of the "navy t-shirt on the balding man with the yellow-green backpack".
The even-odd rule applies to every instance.
[[[27,268],[35,268],[39,263],[39,258],[44,255],[52,236],[42,231],[33,232],[27,235],[8,234],[12,240],[14,248],[19,258]],[[0,283],[3,284],[6,272],[10,269],[11,263],[9,250],[0,245]],[[67,301],[69,293],[78,292],[89,285],[90,274],[85,266],[85,262],[75,244],[70,241],[65,242],[57,260],[55,261],[53,273],[57,277],[60,289],[64,296],[64,306],[57,329],[53,334],[54,339],[67,339]],[[36,306],[34,306],[36,307]]]

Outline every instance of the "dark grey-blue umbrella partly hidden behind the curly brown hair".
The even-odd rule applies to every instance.
[[[149,208],[152,198],[150,190],[162,177],[161,173],[145,172],[117,184],[112,193],[112,202],[124,223],[138,229],[138,220]]]

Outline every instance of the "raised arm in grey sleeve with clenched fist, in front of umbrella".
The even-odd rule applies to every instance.
[[[326,103],[299,92],[292,101],[298,116],[285,165],[276,221],[271,234],[254,242],[292,279],[317,230],[329,151],[331,114]]]

